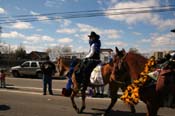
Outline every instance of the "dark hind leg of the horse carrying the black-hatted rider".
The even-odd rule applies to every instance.
[[[109,90],[110,90],[111,103],[108,106],[107,110],[105,111],[105,114],[110,112],[110,110],[115,105],[115,103],[118,99],[118,95],[117,95],[118,86],[115,82],[110,82],[109,83]]]

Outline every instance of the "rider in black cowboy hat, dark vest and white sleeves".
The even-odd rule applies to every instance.
[[[100,36],[92,31],[88,37],[90,51],[80,63],[79,70],[75,73],[76,77],[78,77],[77,80],[82,85],[89,83],[92,70],[100,63]]]

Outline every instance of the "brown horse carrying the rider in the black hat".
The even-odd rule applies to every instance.
[[[61,58],[61,57],[58,58],[58,62],[57,62],[58,67],[57,68],[59,69],[60,76],[64,76],[64,74],[66,72],[68,72],[70,61],[71,60],[68,58]],[[78,60],[78,62],[80,63],[80,60]],[[74,70],[76,71],[78,68],[79,67],[77,65],[74,68]],[[106,84],[109,84],[110,97],[111,97],[111,103],[108,106],[107,110],[105,111],[105,114],[109,113],[109,111],[115,105],[115,102],[117,101],[117,98],[118,98],[117,91],[118,91],[119,87],[121,87],[121,85],[123,85],[123,83],[120,83],[119,81],[114,81],[114,79],[110,78],[112,70],[113,70],[113,62],[102,65],[101,72],[102,72],[102,77],[103,77],[103,82],[104,82],[103,86],[105,86]],[[90,75],[89,75],[89,77],[90,77]],[[74,101],[74,97],[77,95],[77,93],[80,90],[80,84],[77,82],[75,73],[73,73],[73,75],[72,75],[72,81],[73,81],[73,92],[71,94],[72,105],[73,105],[74,109],[77,111],[77,113],[81,113],[85,109],[85,97],[86,97],[85,91],[87,89],[87,86],[94,87],[94,85],[87,84],[86,86],[84,86],[84,89],[82,89],[82,91],[81,91],[82,107],[79,110],[79,108],[77,107],[77,105]],[[129,82],[129,83],[131,83],[131,82]],[[133,105],[131,105],[130,108],[131,108],[131,112],[135,112],[135,108]]]

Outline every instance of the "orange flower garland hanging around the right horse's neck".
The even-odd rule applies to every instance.
[[[128,85],[123,95],[120,97],[127,104],[136,105],[139,102],[139,88],[142,87],[148,80],[147,74],[151,72],[155,65],[155,59],[150,58],[145,64],[144,70],[140,73],[140,78],[133,81]]]

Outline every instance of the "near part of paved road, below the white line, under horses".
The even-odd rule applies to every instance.
[[[43,96],[38,92],[16,92],[0,90],[0,116],[77,116],[73,110],[70,99],[59,95]],[[80,98],[76,98],[80,105]],[[110,102],[109,99],[87,98],[87,108],[81,116],[100,116]],[[116,110],[118,109],[118,110]],[[144,116],[144,104],[137,107],[135,116]],[[114,107],[113,115],[131,115],[128,107],[123,102],[118,102]]]

